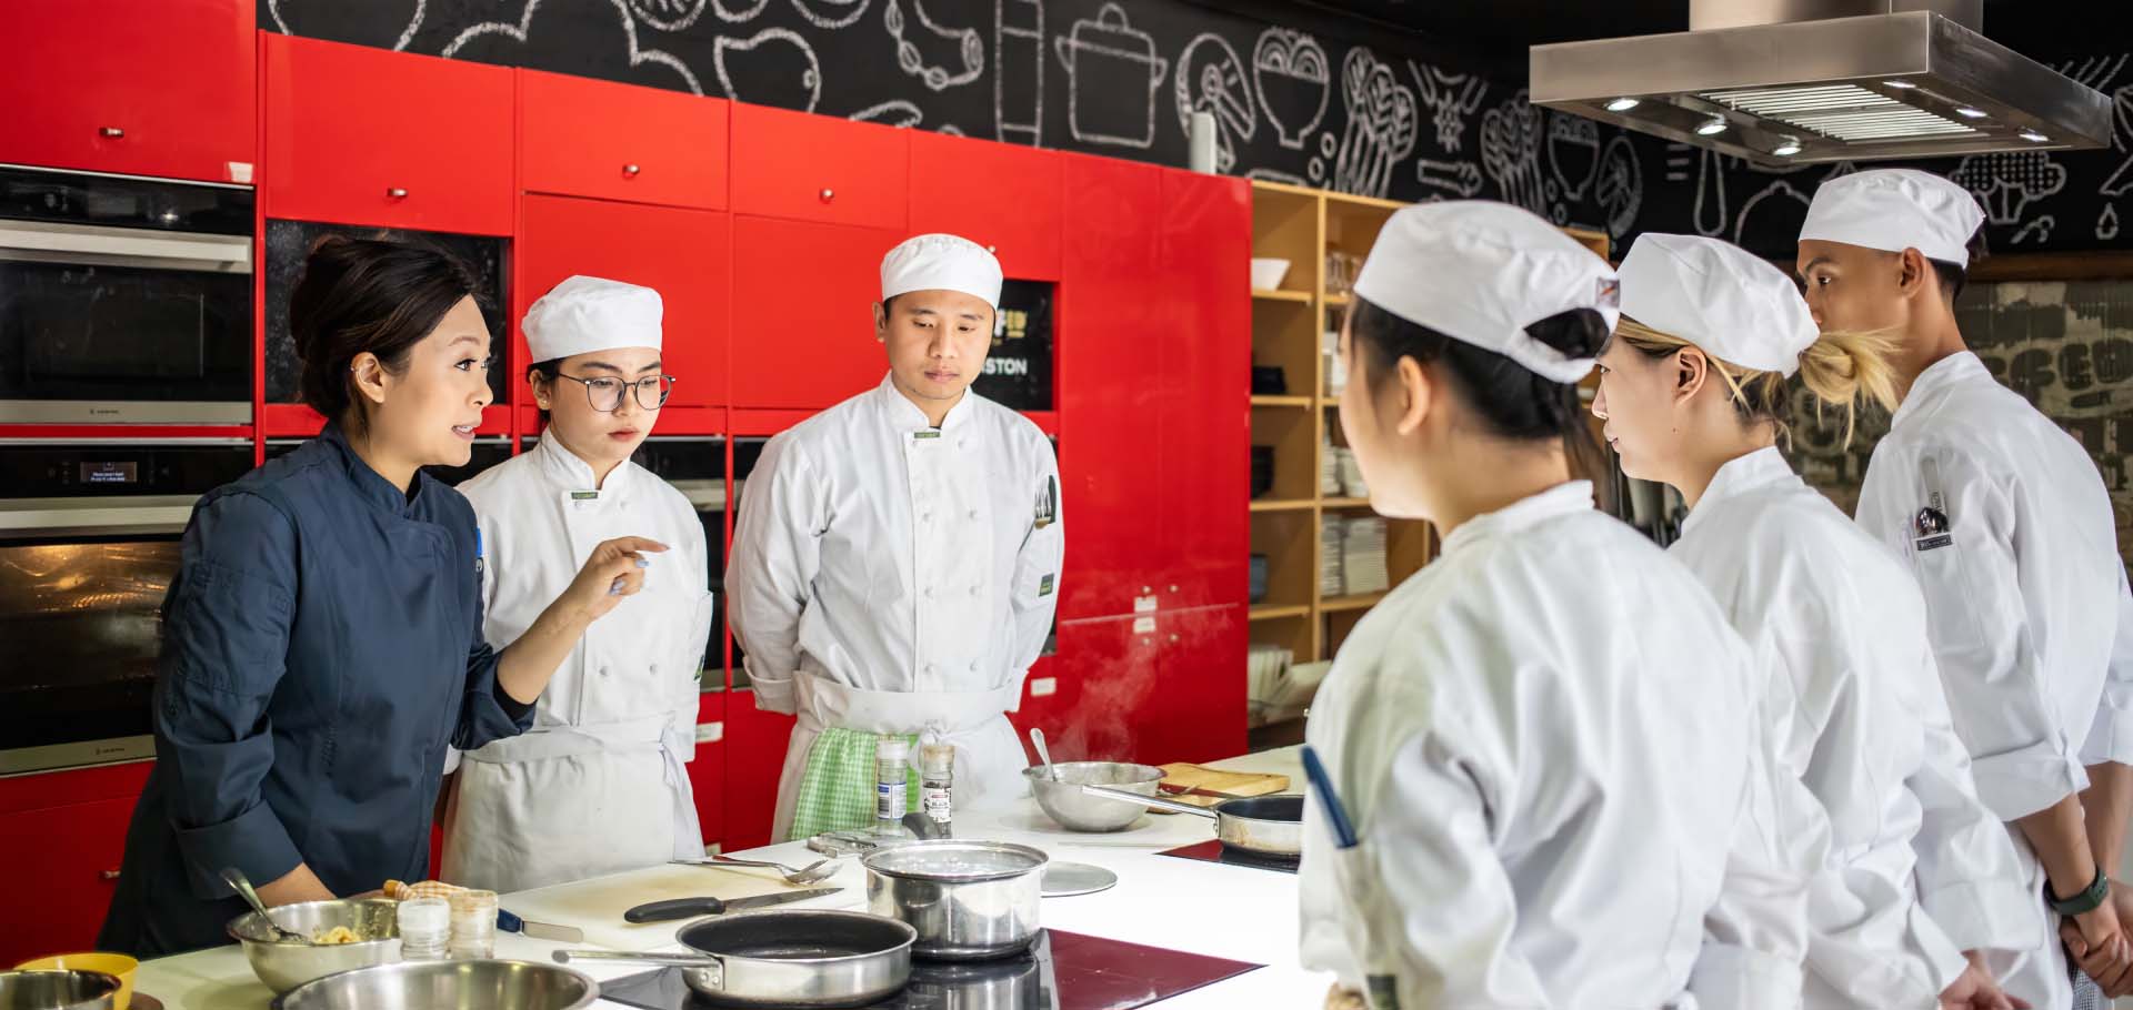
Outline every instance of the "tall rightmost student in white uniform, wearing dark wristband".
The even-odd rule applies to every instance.
[[[1819,326],[1894,335],[1903,403],[1858,522],[1924,590],[1956,735],[2033,901],[2065,916],[2084,967],[2116,991],[2133,980],[2129,895],[2110,886],[2133,788],[2133,663],[2112,654],[2133,620],[2124,567],[2095,462],[1992,381],[1956,328],[1982,222],[1947,179],[1845,175],[1815,192],[1798,273]],[[2039,1010],[2071,1006],[2056,938],[1994,972]]]

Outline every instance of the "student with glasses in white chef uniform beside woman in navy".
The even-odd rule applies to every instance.
[[[710,637],[704,524],[629,456],[674,377],[661,371],[659,292],[572,277],[527,309],[540,443],[459,490],[482,531],[488,641],[512,641],[593,543],[638,531],[670,550],[644,590],[570,654],[533,729],[461,754],[442,880],[491,891],[702,859],[697,667]]]

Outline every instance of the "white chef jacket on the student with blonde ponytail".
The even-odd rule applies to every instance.
[[[1770,671],[1779,744],[1830,820],[1809,901],[1809,1008],[1930,1008],[1962,950],[2050,923],[1971,784],[1911,573],[1775,450],[1719,467],[1668,548]]]

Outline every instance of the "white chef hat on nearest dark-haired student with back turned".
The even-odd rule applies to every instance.
[[[1593,360],[1570,358],[1525,328],[1570,309],[1598,309],[1613,328],[1619,313],[1606,260],[1529,211],[1493,200],[1393,211],[1354,294],[1555,381],[1578,381]]]

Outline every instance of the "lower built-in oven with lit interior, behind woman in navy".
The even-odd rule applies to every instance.
[[[162,597],[243,439],[0,441],[0,776],[156,756]]]

